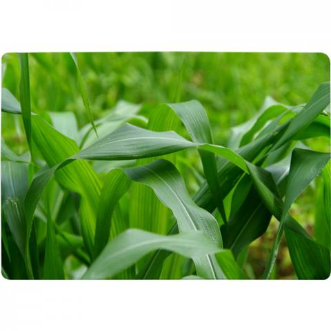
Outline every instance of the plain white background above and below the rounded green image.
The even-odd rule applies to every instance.
[[[330,1],[6,0],[0,52],[331,54]],[[330,330],[328,281],[6,281],[0,328]]]

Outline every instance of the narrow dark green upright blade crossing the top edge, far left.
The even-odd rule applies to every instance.
[[[21,100],[21,113],[23,118],[24,130],[26,130],[26,140],[32,155],[32,134],[31,134],[31,97],[30,97],[30,75],[29,59],[27,53],[19,53],[19,65],[21,68],[21,81],[19,92]]]

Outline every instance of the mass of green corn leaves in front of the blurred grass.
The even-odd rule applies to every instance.
[[[329,277],[330,153],[305,144],[330,139],[329,82],[303,105],[266,99],[220,146],[197,100],[162,103],[148,116],[122,101],[94,121],[76,54],[68,61],[89,123],[78,129],[70,112],[37,114],[29,57],[18,57],[20,97],[2,88],[1,110],[23,121],[27,150],[1,141],[4,277],[249,279],[248,248],[272,218],[278,228],[263,279],[272,278],[282,237],[298,279]],[[290,212],[312,183],[313,236]]]

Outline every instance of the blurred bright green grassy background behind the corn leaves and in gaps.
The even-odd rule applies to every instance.
[[[330,61],[321,53],[94,52],[77,57],[94,119],[120,100],[140,103],[148,117],[158,103],[198,99],[208,112],[214,142],[220,145],[226,145],[228,129],[250,119],[266,96],[288,105],[306,103],[320,83],[330,80]],[[88,123],[70,55],[35,53],[29,60],[32,111],[74,112],[79,128]],[[3,55],[2,81],[19,99],[17,54]],[[27,150],[20,121],[2,113],[2,137],[19,154]],[[329,148],[325,140],[314,144],[318,150]],[[292,208],[310,231],[314,199],[310,187]],[[277,221],[272,221],[268,231],[250,245],[246,271],[257,273],[252,277],[263,272],[276,229]],[[277,278],[294,277],[289,261],[283,243]]]

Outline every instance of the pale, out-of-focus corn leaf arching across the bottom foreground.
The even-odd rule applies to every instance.
[[[157,249],[171,250],[185,257],[219,252],[201,231],[162,236],[143,230],[130,229],[110,241],[99,257],[90,265],[83,279],[105,279],[130,267],[144,255]]]

